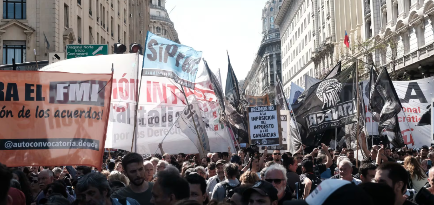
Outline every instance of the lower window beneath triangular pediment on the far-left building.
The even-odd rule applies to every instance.
[[[26,62],[26,41],[3,41],[3,64]]]

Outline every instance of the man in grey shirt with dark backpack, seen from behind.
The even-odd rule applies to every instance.
[[[224,165],[223,169],[225,180],[217,183],[216,186],[214,186],[213,192],[211,194],[211,199],[216,199],[219,202],[223,202],[225,198],[230,198],[232,196],[230,190],[240,186],[240,182],[236,178],[238,174],[238,165],[234,163],[227,163]]]

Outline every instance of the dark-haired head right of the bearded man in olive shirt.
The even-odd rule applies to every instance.
[[[157,180],[152,188],[151,204],[174,205],[182,199],[189,198],[190,185],[179,173],[173,173],[169,170],[158,173]]]

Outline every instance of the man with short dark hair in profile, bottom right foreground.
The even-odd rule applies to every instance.
[[[407,192],[408,173],[398,163],[382,163],[375,173],[377,183],[385,183],[395,192],[395,205],[415,205],[406,200],[402,195]]]

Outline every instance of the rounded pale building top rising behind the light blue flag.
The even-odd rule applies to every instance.
[[[151,8],[151,25],[149,31],[179,43],[178,33],[164,8],[166,0],[148,0]]]

